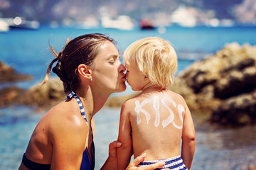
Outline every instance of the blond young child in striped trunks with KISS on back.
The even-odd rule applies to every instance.
[[[174,48],[161,38],[143,38],[124,51],[124,64],[128,84],[142,92],[121,109],[118,169],[126,169],[132,154],[146,154],[139,166],[165,162],[163,169],[190,169],[196,147],[191,113],[182,96],[166,89],[174,84]]]

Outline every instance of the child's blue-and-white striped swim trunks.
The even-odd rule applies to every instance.
[[[177,157],[171,157],[167,159],[159,159],[154,161],[146,161],[139,163],[138,166],[146,166],[150,164],[154,164],[157,162],[165,162],[166,164],[161,169],[173,169],[173,170],[186,170],[185,164],[183,164],[183,160],[181,159],[181,156]]]

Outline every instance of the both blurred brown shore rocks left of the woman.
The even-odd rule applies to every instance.
[[[29,89],[21,89],[13,83],[28,81],[32,77],[19,74],[12,67],[0,62],[0,84],[7,84],[0,89],[0,108],[29,106],[36,110],[48,109],[65,99],[63,84],[58,78],[50,79],[46,85],[36,84]]]

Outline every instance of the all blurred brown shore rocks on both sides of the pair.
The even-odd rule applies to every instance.
[[[24,75],[8,76],[14,72],[0,62],[0,84],[31,79]],[[255,124],[255,46],[240,46],[236,42],[226,45],[214,55],[191,64],[178,74],[174,82],[170,89],[181,94],[191,112],[203,121],[232,126]],[[35,85],[28,90],[11,86],[0,89],[0,92],[0,108],[15,104],[48,109],[65,99],[63,84],[58,78],[51,78],[43,86]],[[105,106],[119,107],[129,97],[109,98]]]

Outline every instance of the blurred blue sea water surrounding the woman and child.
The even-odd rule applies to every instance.
[[[28,89],[41,81],[48,64],[53,60],[49,44],[58,51],[69,36],[75,38],[85,33],[110,35],[118,42],[121,54],[130,43],[139,38],[159,36],[169,40],[178,54],[178,72],[194,61],[220,50],[227,43],[256,45],[256,28],[175,27],[166,28],[164,34],[158,33],[157,30],[82,30],[48,27],[39,30],[11,30],[9,33],[0,33],[0,60],[18,72],[32,75],[33,80],[1,87],[16,85]],[[130,92],[128,89],[126,93]],[[43,113],[35,114],[31,108],[26,107],[0,109],[0,169],[18,168],[31,133],[42,115]],[[100,169],[107,158],[108,144],[117,139],[118,120],[119,108],[103,108],[95,115],[96,169]],[[245,129],[245,132],[247,131],[252,132],[252,135],[256,134],[255,127]],[[210,132],[198,130],[192,170],[244,169],[245,164],[250,164],[256,159],[255,140],[244,140],[250,138],[243,136],[245,132],[242,128]]]

